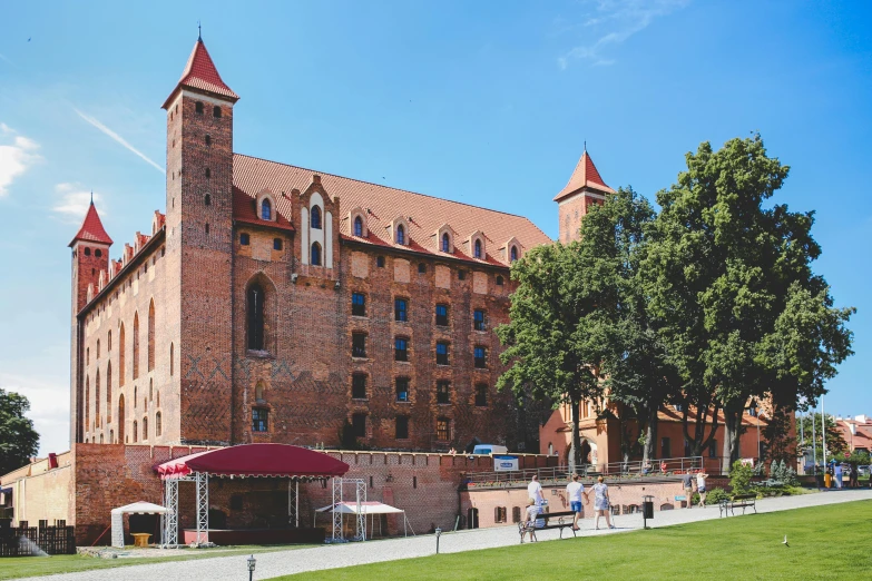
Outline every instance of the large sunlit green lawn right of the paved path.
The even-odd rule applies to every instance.
[[[280,579],[866,579],[870,522],[872,501],[860,501]]]

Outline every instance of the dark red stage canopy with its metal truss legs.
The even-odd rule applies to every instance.
[[[195,544],[208,544],[208,480],[218,477],[286,477],[288,515],[300,525],[300,481],[341,477],[349,465],[323,452],[290,444],[241,444],[207,450],[168,460],[155,466],[164,481],[165,505],[170,510],[164,521],[164,545],[178,542],[178,483],[196,482],[197,533]]]

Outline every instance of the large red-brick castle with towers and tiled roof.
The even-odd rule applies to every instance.
[[[198,40],[167,115],[166,214],[72,248],[71,442],[538,451],[493,327],[529,219],[233,150],[238,96]],[[611,191],[585,154],[560,237]],[[535,415],[535,417],[532,417]],[[347,425],[346,425],[347,424]]]

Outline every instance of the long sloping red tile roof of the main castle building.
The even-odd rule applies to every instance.
[[[448,224],[454,232],[452,255],[454,258],[500,266],[508,264],[502,248],[512,237],[518,239],[521,252],[552,242],[533,223],[522,216],[241,154],[234,154],[233,157],[234,189],[238,189],[249,198],[268,189],[277,199],[280,215],[285,218],[291,217],[290,200],[286,196],[291,196],[293,189],[305,191],[312,184],[314,175],[321,176],[322,186],[329,195],[339,196],[341,200],[340,233],[345,239],[385,247],[396,246],[391,239],[388,227],[394,218],[402,216],[408,219],[408,234],[411,239],[410,244],[402,248],[433,256],[445,256],[437,249],[435,233],[442,225]],[[235,203],[236,197],[234,197],[234,207]],[[362,208],[368,216],[366,238],[352,236],[351,233],[347,216],[349,211],[356,207]],[[472,258],[472,249],[469,248],[468,238],[476,230],[484,234],[487,256],[483,260]]]

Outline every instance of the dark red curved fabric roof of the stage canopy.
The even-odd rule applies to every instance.
[[[242,444],[177,457],[155,467],[163,480],[193,472],[212,476],[283,476],[300,480],[342,476],[349,465],[306,447],[290,444]]]

